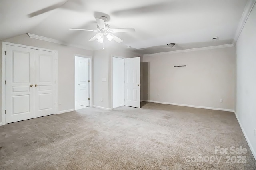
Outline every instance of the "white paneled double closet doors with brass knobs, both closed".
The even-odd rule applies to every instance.
[[[56,114],[56,52],[6,45],[6,123]]]

